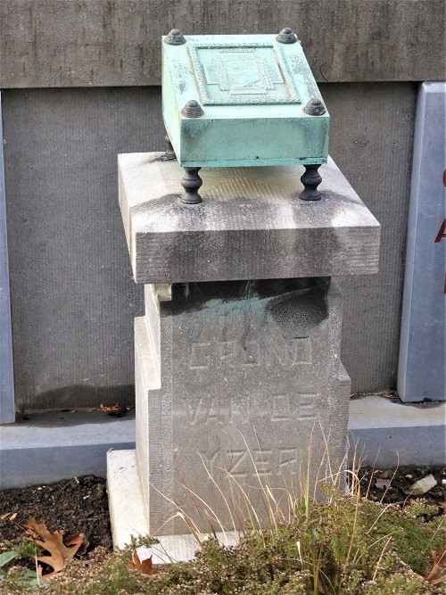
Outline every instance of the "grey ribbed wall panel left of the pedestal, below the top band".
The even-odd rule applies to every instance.
[[[144,311],[117,154],[162,147],[158,90],[7,92],[4,153],[18,409],[132,403]]]

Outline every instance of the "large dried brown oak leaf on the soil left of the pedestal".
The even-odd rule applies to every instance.
[[[53,568],[52,573],[44,574],[44,578],[54,576],[60,573],[63,568],[70,562],[70,559],[77,553],[82,545],[83,539],[78,535],[78,540],[70,546],[66,546],[62,541],[62,534],[58,531],[51,533],[45,525],[45,521],[38,521],[29,516],[27,524],[25,525],[31,532],[36,533],[38,538],[32,537],[34,541],[42,550],[49,553],[49,556],[38,556],[37,560],[43,562]]]

